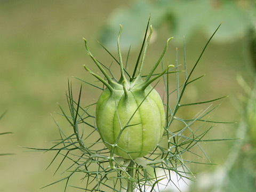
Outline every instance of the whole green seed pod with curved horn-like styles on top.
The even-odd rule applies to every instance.
[[[133,76],[131,77],[128,74],[130,81],[127,81],[124,74],[122,55],[119,46],[121,30],[118,35],[117,43],[119,55],[118,64],[121,68],[120,80],[117,82],[109,77],[106,71],[101,67],[101,63],[99,63],[89,51],[85,39],[87,53],[99,67],[107,81],[93,73],[87,67],[84,67],[93,76],[98,78],[99,81],[106,85],[106,89],[103,90],[97,102],[95,116],[101,139],[112,154],[115,153],[116,155],[127,159],[134,159],[145,156],[150,153],[150,151],[154,150],[164,132],[165,112],[163,102],[158,92],[150,86],[150,83],[164,75],[169,67],[173,67],[170,65],[161,74],[156,74],[152,77],[154,70],[159,62],[161,62],[164,53],[167,50],[167,43],[171,38],[167,40],[165,49],[153,69],[151,69],[146,79],[143,79],[141,70],[149,40],[153,32],[153,29],[150,26],[150,34],[142,55],[139,74],[137,77],[134,77],[138,67],[137,62]],[[142,49],[143,46],[144,43],[142,44]],[[138,61],[139,60],[140,56],[138,58]]]

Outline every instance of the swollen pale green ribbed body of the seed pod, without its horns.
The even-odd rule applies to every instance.
[[[123,90],[110,93],[106,89],[102,92],[97,103],[96,123],[103,141],[116,142],[119,132],[151,89],[149,86],[145,91],[127,91],[126,97]],[[156,90],[152,90],[132,117],[129,125],[133,126],[126,127],[122,132],[114,153],[127,159],[147,155],[162,138],[164,123],[161,97]],[[110,145],[106,146],[111,150]]]

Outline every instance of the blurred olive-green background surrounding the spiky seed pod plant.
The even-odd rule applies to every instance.
[[[239,98],[244,89],[238,85],[236,77],[243,76],[249,86],[253,82],[251,52],[255,52],[250,52],[249,49],[249,31],[255,23],[255,4],[253,1],[235,0],[198,0],[187,3],[188,1],[0,1],[0,114],[7,110],[0,122],[0,132],[14,132],[1,137],[0,153],[16,154],[0,157],[1,192],[63,191],[64,183],[39,189],[63,177],[59,174],[61,171],[53,176],[58,165],[45,171],[54,154],[25,153],[23,151],[26,149],[20,146],[47,148],[51,146],[50,140],[59,138],[51,114],[68,130],[65,119],[54,114],[54,111],[59,111],[57,102],[66,107],[67,79],[73,81],[76,90],[81,82],[73,76],[95,81],[83,70],[83,64],[97,71],[85,53],[82,37],[88,40],[95,57],[109,64],[111,58],[97,44],[97,40],[115,51],[113,41],[116,39],[113,40],[113,36],[118,33],[121,23],[121,47],[124,55],[132,43],[129,62],[129,69],[132,70],[149,13],[155,28],[154,41],[150,44],[146,59],[149,67],[145,67],[145,73],[154,65],[166,39],[171,36],[177,40],[170,42],[164,62],[175,63],[175,47],[178,46],[179,62],[183,63],[182,39],[185,35],[187,63],[191,69],[210,34],[223,22],[194,75],[206,76],[203,81],[188,87],[184,102],[230,95],[231,98],[215,103],[221,103],[221,106],[211,114],[210,119],[240,121],[243,103]],[[118,74],[118,69],[114,68],[114,71]],[[160,84],[157,90],[163,92]],[[83,86],[83,92],[84,105],[97,101],[100,94],[87,85]],[[187,108],[182,113],[190,118],[204,108],[205,106]],[[234,138],[236,130],[237,125],[218,124],[207,137]],[[212,163],[221,165],[225,163],[234,142],[237,141],[206,143],[203,148]],[[216,150],[218,155],[215,154]],[[202,162],[207,162],[207,159]],[[217,167],[199,165],[193,167],[193,170],[197,173],[210,172]],[[246,179],[246,175],[244,178]],[[252,186],[253,182],[255,184],[252,179]]]

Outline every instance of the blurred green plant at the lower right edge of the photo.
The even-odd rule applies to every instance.
[[[243,133],[243,141],[236,148],[236,161],[228,172],[225,191],[254,191],[256,189],[256,78],[252,88],[242,77],[238,82],[245,90],[243,114],[238,134]]]

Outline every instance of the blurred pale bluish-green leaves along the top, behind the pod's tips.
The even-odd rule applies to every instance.
[[[132,43],[139,45],[145,15],[153,16],[154,27],[167,25],[174,41],[183,42],[182,35],[193,38],[195,33],[210,36],[213,26],[223,22],[223,26],[213,41],[226,43],[244,37],[256,23],[256,2],[254,0],[155,0],[134,1],[129,9],[117,8],[109,17],[101,31],[101,41],[115,48],[116,26],[119,23],[130,30],[124,31],[123,45],[126,49]],[[136,26],[136,30],[134,30]]]

